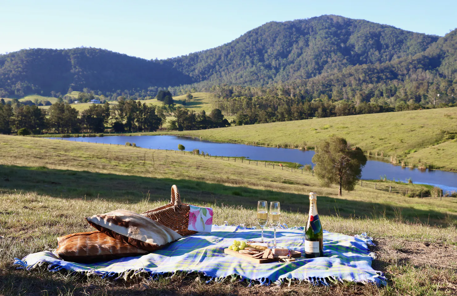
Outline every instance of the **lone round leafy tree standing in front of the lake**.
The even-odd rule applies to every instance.
[[[313,162],[316,164],[314,172],[322,185],[339,185],[338,196],[341,196],[342,189],[354,190],[367,157],[361,148],[351,147],[345,139],[331,137],[316,146]]]

